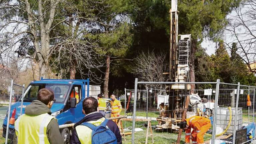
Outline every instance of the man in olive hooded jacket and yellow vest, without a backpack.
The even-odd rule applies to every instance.
[[[63,144],[57,119],[51,116],[54,94],[48,89],[38,91],[34,100],[25,109],[25,114],[15,121],[13,143],[18,144]]]

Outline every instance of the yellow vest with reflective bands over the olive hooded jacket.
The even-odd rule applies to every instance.
[[[48,113],[38,116],[21,115],[14,124],[19,144],[50,144],[46,129],[54,117]]]

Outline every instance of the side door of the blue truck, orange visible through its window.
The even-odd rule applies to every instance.
[[[77,99],[77,105],[75,108],[71,108],[71,114],[74,116],[75,118],[75,122],[78,122],[79,120],[81,120],[85,115],[82,113],[82,89],[81,89],[81,85],[74,85],[70,96],[69,96],[69,103],[71,101],[71,98],[76,98]]]

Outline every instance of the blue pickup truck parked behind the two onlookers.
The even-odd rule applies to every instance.
[[[32,81],[24,92],[22,114],[25,113],[26,106],[37,99],[37,93],[42,88],[47,88],[54,92],[56,101],[51,108],[51,115],[58,119],[59,125],[76,123],[84,117],[82,113],[82,101],[89,96],[89,79],[68,80],[41,78],[40,81]],[[74,98],[74,95],[76,95],[76,98]],[[21,99],[11,105],[10,119],[14,118],[16,120],[20,116],[20,109]],[[7,117],[8,111],[3,121],[3,137],[6,137]],[[71,128],[60,129],[65,143],[69,142],[71,130]],[[14,124],[9,124],[8,133],[8,138],[12,139],[15,133]]]

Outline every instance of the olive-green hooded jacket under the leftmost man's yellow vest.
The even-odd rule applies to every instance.
[[[25,109],[25,114],[29,116],[37,116],[40,114],[48,113],[51,114],[51,109],[39,100],[34,100]],[[62,138],[59,130],[59,125],[57,119],[52,119],[46,129],[47,138],[50,144],[64,144],[64,139]],[[17,135],[14,134],[13,143],[17,143]]]

